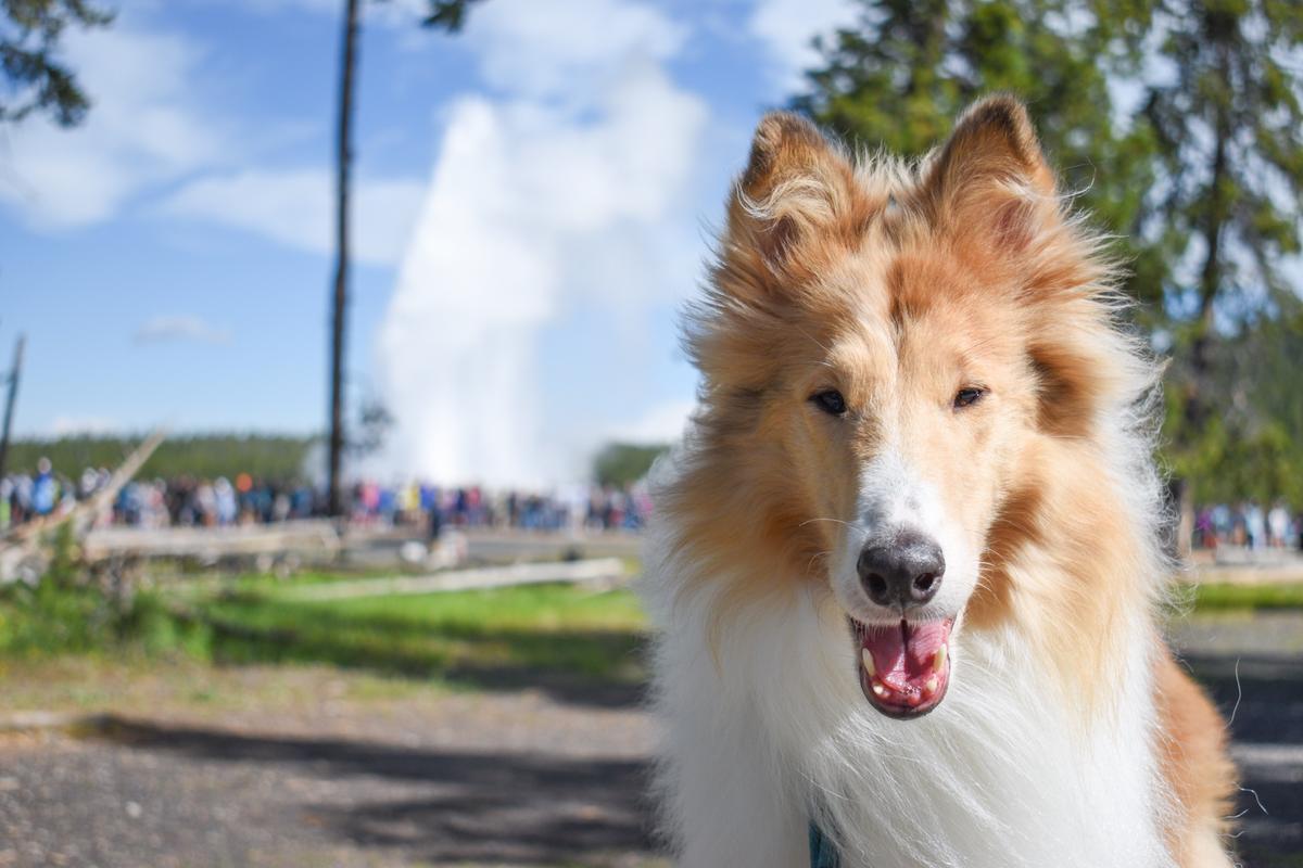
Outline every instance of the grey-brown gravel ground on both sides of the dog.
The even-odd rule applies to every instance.
[[[1303,614],[1201,617],[1173,640],[1234,711],[1256,793],[1242,794],[1244,864],[1303,865]],[[654,734],[627,691],[214,678],[207,705],[172,683],[100,685],[104,725],[0,735],[0,865],[662,864],[640,802]]]

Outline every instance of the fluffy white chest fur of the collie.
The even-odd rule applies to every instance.
[[[665,657],[694,660],[662,674],[696,683],[666,692],[662,682],[662,695],[713,698],[710,717],[749,721],[737,733],[752,742],[749,760],[747,751],[704,751],[702,761],[721,768],[694,773],[728,777],[736,769],[726,765],[754,763],[740,789],[773,791],[735,796],[764,800],[757,819],[777,798],[778,811],[797,817],[788,835],[817,822],[842,868],[1171,864],[1156,828],[1164,796],[1143,645],[1126,657],[1134,671],[1109,677],[1122,691],[1113,711],[1088,720],[1054,694],[1052,674],[1016,635],[960,632],[958,678],[942,707],[894,721],[860,694],[850,639],[829,629],[837,617],[803,595],[795,610],[736,619],[714,651],[702,634],[696,653]],[[681,652],[688,636],[676,632]],[[1145,635],[1143,625],[1134,632]],[[711,655],[718,666],[702,665]]]

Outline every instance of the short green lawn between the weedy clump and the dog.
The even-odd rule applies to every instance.
[[[215,660],[330,662],[472,686],[642,675],[644,618],[628,591],[558,584],[301,603],[281,587],[242,582],[198,605]]]

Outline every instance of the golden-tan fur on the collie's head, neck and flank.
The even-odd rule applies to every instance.
[[[702,406],[659,502],[692,527],[680,557],[728,566],[694,579],[728,583],[713,617],[826,584],[855,509],[846,468],[890,439],[981,552],[963,629],[1016,630],[1083,720],[1110,714],[1098,674],[1126,649],[1105,638],[1152,618],[1169,571],[1157,517],[1122,502],[1132,480],[1110,452],[1111,415],[1143,424],[1154,370],[1118,327],[1114,278],[1014,99],[972,108],[917,165],[856,161],[804,120],[767,116],[691,321]],[[986,394],[959,413],[969,385]],[[829,388],[846,419],[810,410]],[[1207,841],[1234,790],[1224,725],[1169,655],[1156,666],[1170,847],[1183,868],[1222,864]]]

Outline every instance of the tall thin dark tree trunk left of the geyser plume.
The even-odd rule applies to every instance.
[[[331,316],[330,489],[327,511],[343,514],[340,471],[344,453],[344,320],[348,312],[348,195],[353,159],[353,77],[357,66],[358,0],[345,0],[343,62],[339,81],[339,141],[335,199],[335,292]]]

